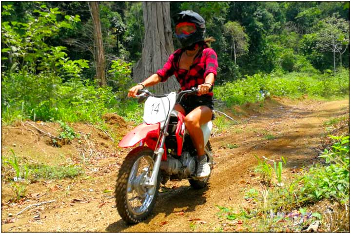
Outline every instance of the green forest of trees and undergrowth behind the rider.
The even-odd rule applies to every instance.
[[[132,68],[149,46],[144,5],[100,1],[94,10],[91,3],[1,2],[2,123],[101,123],[107,112],[141,121],[141,104],[126,95],[136,83]],[[349,95],[350,2],[172,1],[172,29],[187,9],[204,17],[206,36],[216,39],[215,98],[227,106],[263,94]],[[105,80],[97,73],[97,10]],[[180,47],[174,34],[173,43]]]

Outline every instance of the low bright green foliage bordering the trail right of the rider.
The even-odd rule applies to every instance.
[[[283,76],[275,73],[255,74],[217,86],[214,94],[216,98],[225,101],[227,106],[232,106],[263,100],[260,91],[291,98],[305,94],[311,97],[342,97],[348,94],[349,84],[348,70],[342,70],[335,76],[308,73],[290,73]]]

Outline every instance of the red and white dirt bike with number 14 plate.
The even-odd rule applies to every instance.
[[[188,179],[193,188],[201,189],[207,186],[211,175],[202,179],[195,177],[196,150],[185,128],[185,116],[174,110],[184,95],[194,95],[197,89],[168,95],[153,95],[146,89],[138,93],[139,100],[146,99],[144,121],[119,142],[119,147],[137,147],[124,159],[115,191],[118,213],[129,224],[141,222],[151,214],[160,183]],[[212,122],[203,124],[201,129],[205,155],[212,168],[212,149],[208,141]]]

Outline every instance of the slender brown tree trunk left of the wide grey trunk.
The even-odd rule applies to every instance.
[[[100,85],[106,85],[105,78],[105,52],[102,42],[101,24],[100,24],[100,13],[97,1],[89,1],[89,10],[93,19],[94,26],[94,40],[95,40],[95,55],[96,55],[96,69],[97,79],[100,80]]]

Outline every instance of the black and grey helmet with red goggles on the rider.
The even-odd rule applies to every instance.
[[[205,39],[205,20],[194,11],[182,11],[176,19],[176,38],[183,48],[192,49],[195,43]]]

